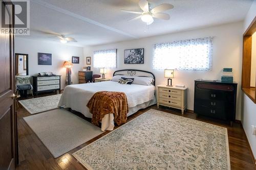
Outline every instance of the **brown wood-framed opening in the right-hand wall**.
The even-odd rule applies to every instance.
[[[242,90],[256,103],[256,17],[243,35]]]

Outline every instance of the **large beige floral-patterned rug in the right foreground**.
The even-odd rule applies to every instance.
[[[226,128],[153,109],[73,156],[88,169],[230,169]]]

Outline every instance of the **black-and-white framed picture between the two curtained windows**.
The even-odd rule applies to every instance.
[[[144,64],[144,48],[124,50],[124,64]]]

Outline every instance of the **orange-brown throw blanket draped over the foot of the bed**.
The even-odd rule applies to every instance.
[[[126,123],[129,111],[127,98],[124,92],[99,91],[96,92],[87,104],[93,114],[92,123],[99,125],[100,120],[109,113],[114,114],[117,125]]]

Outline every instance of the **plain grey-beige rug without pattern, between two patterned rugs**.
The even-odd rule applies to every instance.
[[[103,133],[99,127],[65,109],[31,115],[24,120],[54,158]]]

